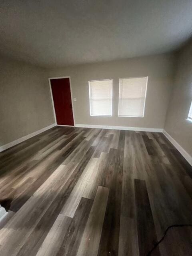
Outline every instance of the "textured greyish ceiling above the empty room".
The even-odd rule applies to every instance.
[[[0,52],[41,66],[169,52],[191,32],[191,0],[0,2]]]

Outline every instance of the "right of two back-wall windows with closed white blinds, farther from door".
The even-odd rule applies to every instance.
[[[120,78],[118,116],[143,117],[148,77]]]

